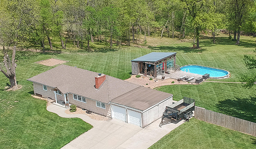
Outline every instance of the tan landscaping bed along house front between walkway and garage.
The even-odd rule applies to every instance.
[[[97,115],[95,113],[88,114],[88,113],[86,113],[85,110],[82,110],[81,108],[76,108],[76,112],[70,112],[70,110],[67,109],[65,111],[65,113],[69,114],[69,115],[84,114],[84,115],[89,116],[93,120],[108,120],[109,119],[109,117],[105,117],[105,116],[102,116],[102,115]]]

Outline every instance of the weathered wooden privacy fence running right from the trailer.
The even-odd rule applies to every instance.
[[[256,136],[256,123],[195,106],[195,118]]]

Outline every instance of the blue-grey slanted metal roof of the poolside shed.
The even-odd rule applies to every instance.
[[[151,52],[149,54],[143,55],[142,57],[135,58],[133,61],[141,61],[141,62],[157,62],[158,60],[162,60],[163,58],[169,57],[171,55],[175,55],[176,52]]]

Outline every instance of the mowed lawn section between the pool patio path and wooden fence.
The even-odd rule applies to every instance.
[[[244,89],[236,83],[204,82],[200,85],[161,86],[157,90],[195,99],[195,105],[256,123],[256,86]]]

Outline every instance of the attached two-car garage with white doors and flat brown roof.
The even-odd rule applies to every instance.
[[[140,86],[111,100],[112,117],[144,128],[172,105],[172,94]]]

